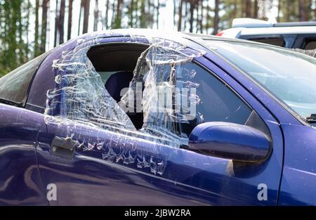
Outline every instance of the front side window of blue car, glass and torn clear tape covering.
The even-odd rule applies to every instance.
[[[203,51],[166,39],[150,43],[138,58],[129,89],[119,103],[107,92],[86,55],[98,42],[79,42],[74,50],[65,51],[53,62],[56,86],[47,91],[46,123],[70,120],[124,135],[120,140],[129,136],[174,148],[188,144],[197,124],[246,123],[250,108],[216,77],[192,63]],[[143,115],[141,129],[134,127],[129,114]]]

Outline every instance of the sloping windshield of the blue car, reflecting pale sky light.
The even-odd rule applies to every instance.
[[[316,59],[263,44],[211,41],[206,45],[256,79],[301,115],[316,113]]]

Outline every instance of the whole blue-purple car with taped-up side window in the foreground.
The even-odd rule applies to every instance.
[[[316,59],[84,34],[0,79],[0,205],[316,205]]]

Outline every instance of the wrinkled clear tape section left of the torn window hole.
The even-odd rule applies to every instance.
[[[133,123],[105,89],[103,81],[86,56],[90,46],[66,52],[55,60],[55,89],[47,91],[46,123],[71,119],[93,127],[128,129]]]

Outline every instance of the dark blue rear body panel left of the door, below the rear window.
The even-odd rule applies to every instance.
[[[48,205],[37,167],[44,115],[0,104],[0,205]]]

